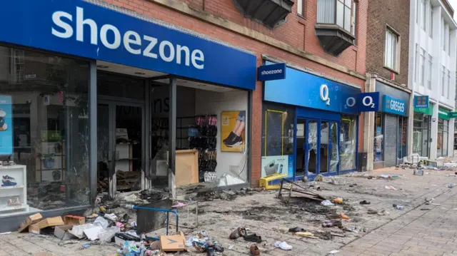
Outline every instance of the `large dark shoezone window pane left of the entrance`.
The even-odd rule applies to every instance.
[[[90,205],[89,62],[0,46],[0,83],[0,215]]]

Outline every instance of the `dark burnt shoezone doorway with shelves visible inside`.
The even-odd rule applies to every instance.
[[[99,188],[116,191],[141,189],[144,107],[141,104],[99,101]]]

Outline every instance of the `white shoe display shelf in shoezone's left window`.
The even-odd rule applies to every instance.
[[[0,175],[0,215],[29,212],[26,165],[2,166]]]

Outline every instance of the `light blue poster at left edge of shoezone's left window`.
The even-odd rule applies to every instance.
[[[13,154],[13,112],[11,96],[0,95],[0,155]]]

